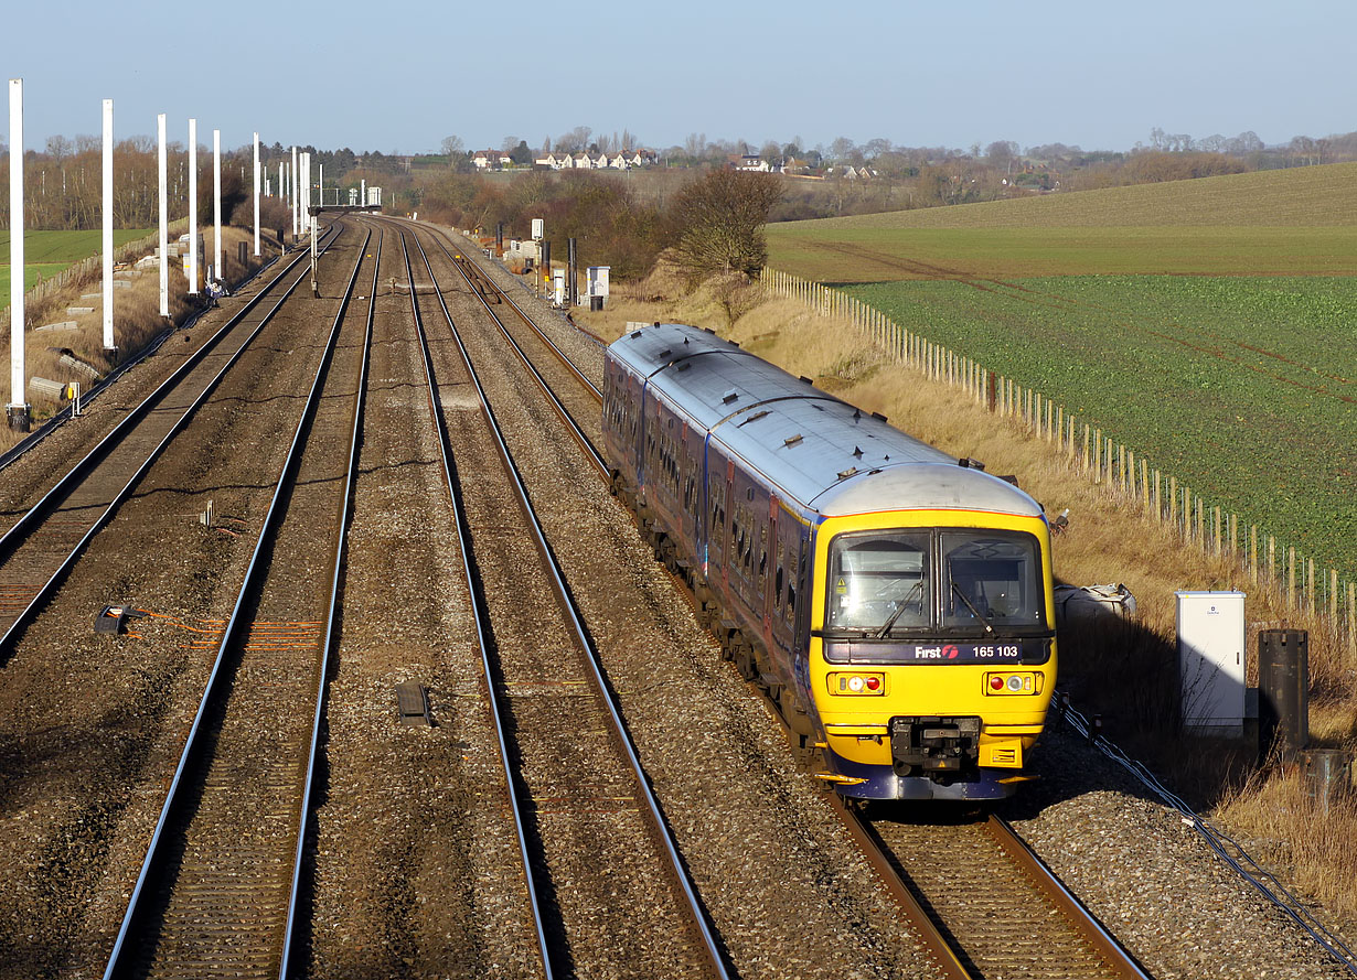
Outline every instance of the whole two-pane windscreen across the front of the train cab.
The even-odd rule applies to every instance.
[[[887,640],[1048,629],[1041,552],[1030,534],[864,531],[829,548],[826,632]]]

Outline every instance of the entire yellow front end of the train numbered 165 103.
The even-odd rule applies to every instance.
[[[993,800],[1056,683],[1044,518],[902,510],[816,535],[807,685],[844,796]]]

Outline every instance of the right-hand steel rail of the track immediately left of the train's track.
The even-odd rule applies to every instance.
[[[402,236],[402,241],[404,236]],[[423,255],[423,248],[419,245],[418,237],[415,237],[415,245],[419,248],[421,255]],[[425,263],[427,266],[427,256],[425,256]],[[408,270],[408,263],[407,263]],[[532,507],[532,500],[528,495],[528,489],[522,483],[522,476],[518,472],[517,465],[513,461],[513,454],[509,451],[509,446],[505,442],[503,432],[499,428],[499,422],[495,417],[495,412],[490,405],[490,399],[486,394],[484,388],[480,384],[480,378],[476,374],[476,369],[472,365],[471,354],[467,351],[465,344],[463,344],[461,335],[457,331],[457,325],[452,319],[452,313],[448,310],[448,304],[442,298],[442,291],[437,289],[437,277],[433,275],[430,268],[430,279],[434,285],[434,295],[438,297],[438,306],[442,309],[444,317],[448,320],[448,329],[452,333],[452,339],[457,344],[457,350],[461,352],[461,358],[467,365],[467,373],[471,377],[471,382],[476,389],[476,394],[480,399],[480,404],[484,409],[486,419],[490,426],[490,432],[494,436],[495,446],[499,450],[499,458],[503,462],[505,472],[514,485],[514,491],[518,496],[518,502],[527,518],[528,530],[532,534],[533,542],[537,546],[537,552],[543,557],[544,571],[548,572],[554,591],[556,594],[556,600],[569,621],[570,629],[575,636],[575,641],[579,649],[585,653],[585,666],[588,667],[589,676],[594,685],[594,690],[604,706],[608,710],[609,720],[612,722],[612,731],[616,736],[616,743],[622,748],[623,754],[627,756],[627,762],[631,767],[632,777],[636,781],[636,786],[641,792],[642,798],[646,801],[646,813],[654,835],[662,844],[665,857],[669,861],[670,873],[678,882],[680,891],[683,892],[684,900],[687,901],[692,922],[697,927],[699,938],[702,939],[703,949],[707,954],[708,965],[712,973],[721,980],[729,980],[730,973],[726,969],[725,956],[721,952],[721,945],[716,941],[714,927],[707,916],[706,908],[697,897],[693,888],[692,880],[684,866],[683,858],[678,854],[678,847],[669,832],[669,824],[664,817],[664,811],[660,807],[660,801],[654,796],[654,790],[650,786],[650,778],[646,775],[645,767],[641,764],[641,758],[636,754],[635,743],[631,740],[631,733],[627,729],[627,724],[622,717],[622,710],[612,697],[608,683],[603,675],[603,664],[598,657],[598,652],[589,637],[588,630],[584,626],[581,613],[574,602],[570,592],[570,587],[566,584],[565,575],[560,565],[556,563],[555,554],[551,552],[551,545],[547,542],[547,534],[537,520],[537,515]],[[411,279],[411,298],[414,298],[414,281]],[[487,675],[489,676],[489,675]]]

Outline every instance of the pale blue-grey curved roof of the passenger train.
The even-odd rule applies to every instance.
[[[714,333],[646,327],[608,355],[636,371],[711,438],[807,510],[900,508],[1041,515],[1012,484],[905,435]]]

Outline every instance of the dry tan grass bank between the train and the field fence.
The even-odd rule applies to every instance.
[[[1357,839],[1357,807],[1327,813],[1304,798],[1293,775],[1258,770],[1247,746],[1187,740],[1179,724],[1175,599],[1178,590],[1238,588],[1247,598],[1248,636],[1288,626],[1310,630],[1311,744],[1357,744],[1357,663],[1327,626],[1288,615],[1280,598],[1254,586],[1236,564],[1201,554],[1137,504],[1118,500],[1071,466],[1056,447],[999,419],[957,390],[886,362],[845,321],[816,316],[792,301],[749,305],[731,320],[721,295],[729,283],[687,293],[658,272],[601,313],[579,313],[589,329],[612,339],[626,321],[680,321],[716,329],[863,409],[953,455],[969,455],[992,473],[1016,474],[1048,512],[1069,508],[1069,529],[1054,541],[1057,579],[1073,584],[1125,583],[1136,595],[1133,624],[1096,633],[1061,634],[1061,686],[1086,712],[1105,716],[1106,731],[1132,754],[1166,773],[1197,805],[1266,846],[1291,855],[1299,886],[1343,915],[1357,916],[1357,858],[1339,865],[1334,842]],[[1254,642],[1254,641],[1251,641]],[[1257,685],[1257,666],[1250,667]],[[1308,807],[1308,809],[1307,809]],[[1349,853],[1352,849],[1346,849]]]

